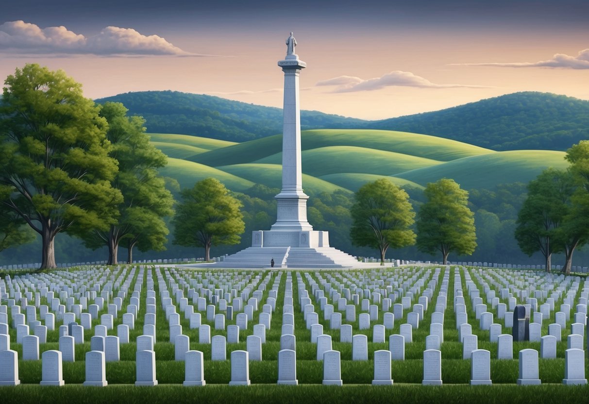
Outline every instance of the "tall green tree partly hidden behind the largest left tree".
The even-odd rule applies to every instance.
[[[109,155],[118,161],[112,186],[121,191],[123,201],[117,206],[117,221],[106,230],[85,233],[82,239],[92,249],[107,246],[108,264],[114,265],[118,263],[118,246],[125,238],[131,250],[140,240],[143,249],[165,249],[169,232],[161,217],[173,214],[174,198],[157,171],[167,164],[167,157],[150,143],[144,119],[127,117],[127,108],[120,102],[106,102],[100,115],[108,122],[107,138],[112,144]],[[129,251],[129,257],[133,257],[133,251]]]

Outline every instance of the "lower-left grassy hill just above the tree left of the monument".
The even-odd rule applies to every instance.
[[[193,163],[192,161],[181,160],[179,158],[168,158],[168,165],[161,168],[160,173],[164,177],[175,178],[182,189],[192,188],[198,181],[208,177],[217,178],[217,180],[221,181],[221,183],[232,191],[245,191],[254,186],[253,181],[240,178],[237,175],[217,170],[217,168],[209,167],[208,165]]]

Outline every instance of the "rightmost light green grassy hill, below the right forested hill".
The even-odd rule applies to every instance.
[[[425,186],[440,178],[453,178],[464,189],[492,189],[497,184],[528,181],[548,167],[565,169],[564,151],[512,150],[449,161],[435,167],[395,174]]]

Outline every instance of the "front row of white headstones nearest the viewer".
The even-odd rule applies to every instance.
[[[318,353],[319,355],[319,353]],[[442,385],[442,361],[441,351],[428,349],[423,352],[423,385]],[[230,385],[250,385],[249,360],[250,352],[234,350],[231,352],[231,381]],[[340,352],[326,350],[322,353],[323,360],[323,384],[342,385]],[[368,359],[368,358],[366,358]],[[471,359],[471,385],[490,385],[491,381],[491,353],[488,350],[477,349],[470,354]],[[184,354],[186,386],[204,386],[203,353],[199,351],[187,351]],[[373,385],[392,385],[391,377],[391,352],[377,350],[374,359]],[[86,353],[84,386],[106,386],[105,355],[101,351]],[[297,385],[296,379],[296,352],[295,350],[282,349],[278,356],[278,381],[279,384]],[[538,367],[538,352],[534,349],[519,351],[519,378],[518,385],[540,385]],[[155,386],[155,352],[153,350],[138,351],[136,355],[136,370],[138,386]],[[565,351],[565,374],[562,380],[564,385],[587,384],[585,379],[585,356],[580,349],[567,349]],[[19,385],[18,356],[14,350],[0,351],[0,386]],[[62,353],[56,350],[48,350],[42,357],[41,385],[62,386]]]

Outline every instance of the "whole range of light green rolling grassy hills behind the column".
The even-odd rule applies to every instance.
[[[233,191],[253,184],[280,188],[282,135],[242,143],[177,134],[151,134],[170,159],[162,169],[182,188],[216,177]],[[383,130],[309,130],[301,133],[303,188],[311,194],[357,191],[368,181],[389,178],[406,190],[439,178],[462,188],[493,189],[527,183],[544,168],[565,168],[562,151],[492,151],[429,135]]]

